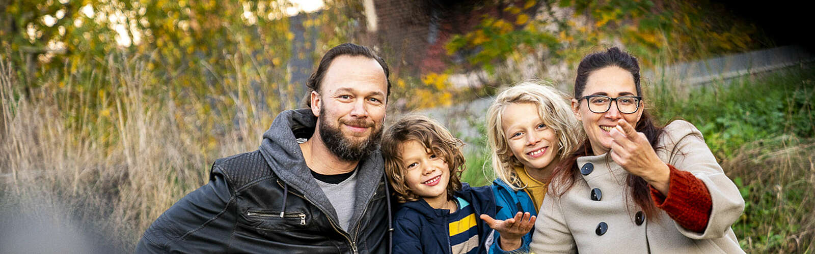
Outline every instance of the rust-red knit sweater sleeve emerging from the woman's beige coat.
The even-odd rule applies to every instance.
[[[713,208],[707,186],[692,173],[676,169],[672,164],[667,167],[671,170],[667,197],[650,186],[654,203],[685,229],[704,232]]]

